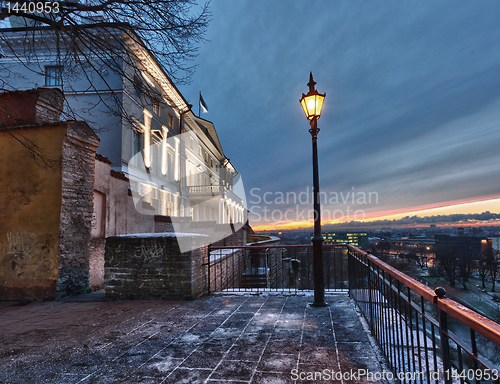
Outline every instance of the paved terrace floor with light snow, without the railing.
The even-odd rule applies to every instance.
[[[0,382],[369,382],[349,372],[382,372],[379,350],[348,295],[326,299],[324,308],[311,296],[0,302]],[[294,381],[294,369],[345,376]]]

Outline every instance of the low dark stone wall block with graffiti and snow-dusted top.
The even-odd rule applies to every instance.
[[[193,242],[181,253],[177,236]],[[106,239],[105,291],[114,299],[195,299],[206,290],[202,260],[207,236],[158,233]]]

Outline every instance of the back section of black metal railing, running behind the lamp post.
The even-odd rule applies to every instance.
[[[312,290],[312,248],[309,245],[210,246],[208,291],[298,293]],[[325,289],[347,292],[347,251],[324,247]]]

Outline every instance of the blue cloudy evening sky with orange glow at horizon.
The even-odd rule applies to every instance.
[[[179,89],[196,112],[202,92],[253,227],[312,220],[310,71],[326,92],[323,221],[500,212],[500,2],[212,0],[211,12]]]

